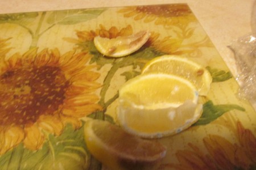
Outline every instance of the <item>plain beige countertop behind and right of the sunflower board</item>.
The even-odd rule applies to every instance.
[[[234,39],[251,32],[253,0],[12,0],[0,1],[0,14],[164,3],[188,3],[230,71],[236,76],[233,53],[228,45]]]

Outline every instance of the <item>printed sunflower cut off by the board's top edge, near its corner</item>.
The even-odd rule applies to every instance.
[[[165,28],[181,27],[181,25],[196,21],[192,11],[185,4],[134,6],[122,8],[118,12],[122,13],[125,18],[143,20],[144,23],[154,22],[156,25],[163,25]]]

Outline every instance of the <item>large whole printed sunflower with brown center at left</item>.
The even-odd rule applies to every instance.
[[[47,134],[60,135],[67,124],[78,129],[81,117],[101,109],[100,74],[96,65],[85,65],[90,58],[31,49],[0,63],[0,155],[19,143],[38,150]]]

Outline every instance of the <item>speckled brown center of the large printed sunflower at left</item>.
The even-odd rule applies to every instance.
[[[0,75],[0,125],[25,125],[59,111],[69,81],[59,67],[7,70]]]

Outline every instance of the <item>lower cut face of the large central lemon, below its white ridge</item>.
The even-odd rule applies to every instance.
[[[201,117],[202,104],[187,100],[177,108],[141,109],[120,100],[119,124],[129,133],[143,138],[162,138],[189,128]]]

